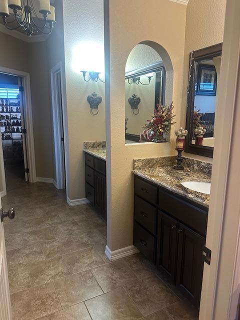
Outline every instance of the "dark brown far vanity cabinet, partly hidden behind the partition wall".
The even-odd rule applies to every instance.
[[[106,161],[85,152],[86,198],[106,220]]]

